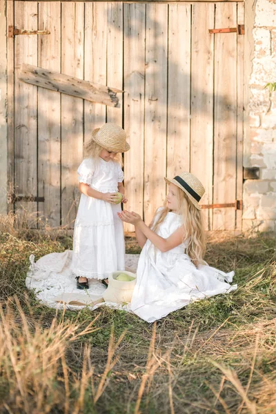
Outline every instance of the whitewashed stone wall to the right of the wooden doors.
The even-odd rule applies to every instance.
[[[246,166],[259,167],[259,179],[244,181],[243,230],[276,229],[276,0],[256,0],[254,55],[250,76],[250,146]]]

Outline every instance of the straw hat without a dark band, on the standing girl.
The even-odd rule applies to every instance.
[[[126,142],[126,131],[111,122],[93,130],[92,139],[108,151],[126,152],[130,149]]]

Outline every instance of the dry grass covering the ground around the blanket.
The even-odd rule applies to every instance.
[[[0,228],[1,413],[276,412],[273,237],[210,235],[207,261],[234,268],[239,288],[149,325],[109,308],[45,308],[25,288],[28,256],[72,239]]]

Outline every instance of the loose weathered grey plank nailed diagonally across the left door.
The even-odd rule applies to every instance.
[[[101,103],[102,105],[117,106],[119,101],[116,96],[116,92],[119,92],[119,90],[115,88],[83,81],[76,77],[70,77],[37,66],[22,65],[19,79],[41,88],[56,90],[66,95]]]

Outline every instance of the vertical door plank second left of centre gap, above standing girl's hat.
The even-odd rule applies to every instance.
[[[84,32],[84,79],[106,85],[106,3],[86,3]],[[106,122],[106,106],[84,102],[84,141],[88,142],[94,128]]]

